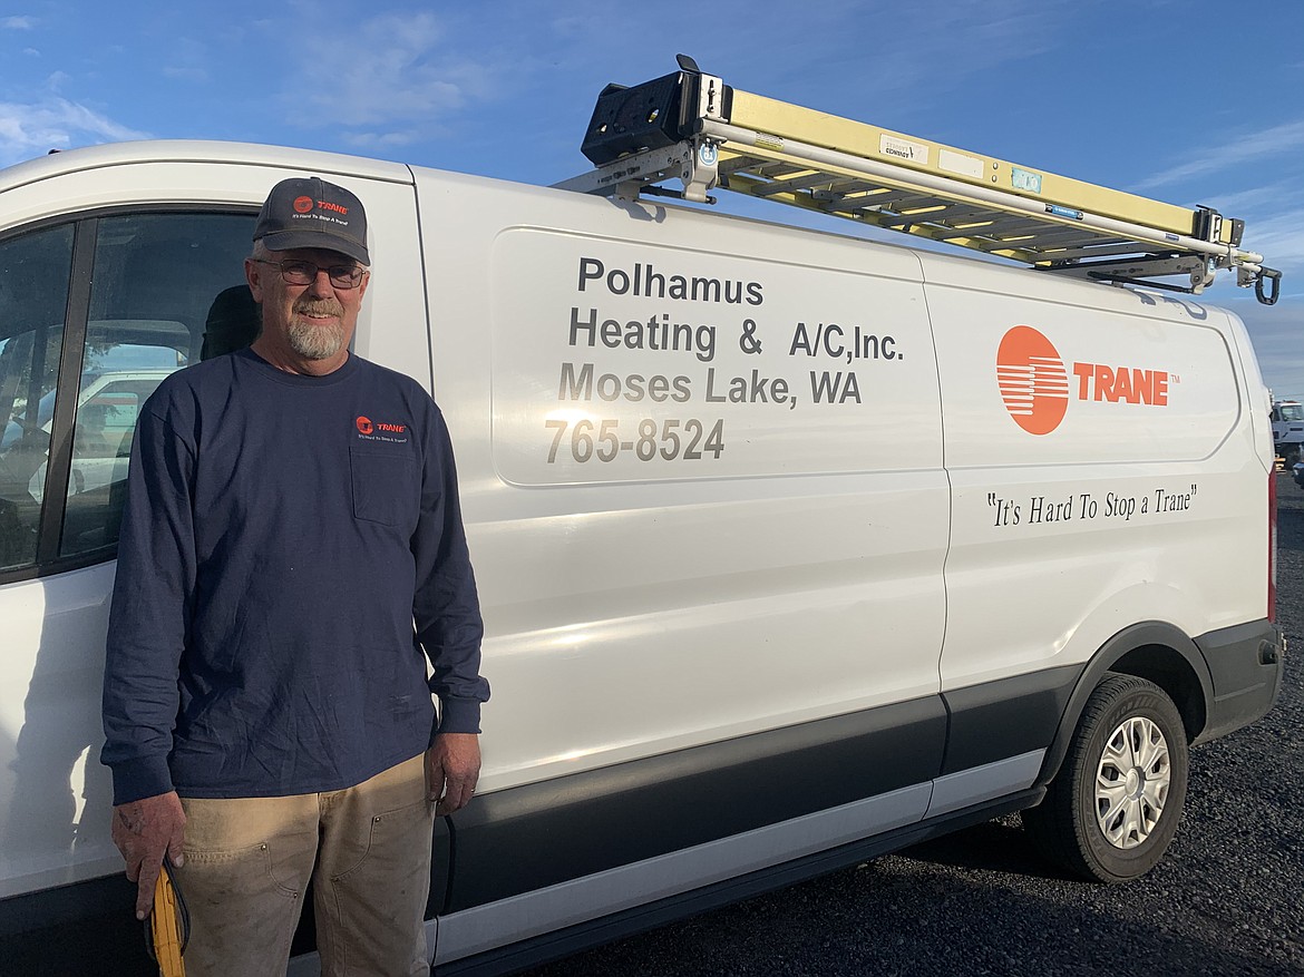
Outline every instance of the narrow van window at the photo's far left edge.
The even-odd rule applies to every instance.
[[[72,253],[68,224],[0,241],[0,569],[37,561]]]

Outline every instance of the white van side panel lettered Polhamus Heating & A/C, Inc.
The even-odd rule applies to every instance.
[[[947,486],[911,254],[868,275],[836,238],[416,182],[488,628],[485,791],[936,694]],[[692,326],[677,349],[644,328],[666,317]],[[849,361],[857,327],[878,358]]]

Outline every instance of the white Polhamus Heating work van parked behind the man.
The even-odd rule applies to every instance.
[[[441,404],[484,602],[441,973],[1021,809],[1128,879],[1189,746],[1271,706],[1273,439],[1227,311],[369,159],[61,152],[0,171],[0,941],[42,973],[140,941],[98,762],[123,483],[70,477],[78,391],[107,349],[194,362],[303,173],[366,206],[355,350]]]

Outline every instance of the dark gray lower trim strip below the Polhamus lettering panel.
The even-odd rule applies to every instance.
[[[945,737],[927,696],[486,793],[451,817],[439,914],[931,783]]]

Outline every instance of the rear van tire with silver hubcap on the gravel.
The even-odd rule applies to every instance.
[[[1125,882],[1148,873],[1187,799],[1187,731],[1151,681],[1108,673],[1086,701],[1046,799],[1024,812],[1037,848],[1074,875]]]

